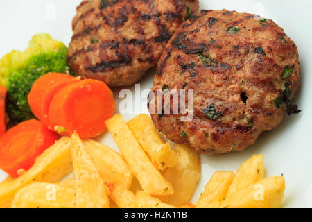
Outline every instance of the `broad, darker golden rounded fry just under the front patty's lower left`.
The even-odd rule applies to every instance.
[[[188,203],[196,189],[200,178],[200,156],[185,145],[175,144],[177,164],[164,171],[163,176],[173,185],[175,194],[172,196],[157,196],[164,203],[179,207]]]

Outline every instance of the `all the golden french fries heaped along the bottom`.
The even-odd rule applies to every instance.
[[[141,114],[128,123],[106,122],[121,151],[77,134],[62,137],[19,178],[0,182],[0,207],[13,208],[209,208],[280,207],[282,176],[265,178],[262,155],[233,172],[216,172],[198,203],[189,203],[200,178],[198,153],[171,147]],[[67,178],[73,172],[73,177]]]

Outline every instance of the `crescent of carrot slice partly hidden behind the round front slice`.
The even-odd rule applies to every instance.
[[[78,79],[67,74],[49,73],[38,78],[28,94],[28,104],[35,117],[49,126],[48,112],[53,96],[62,87],[75,82]]]

